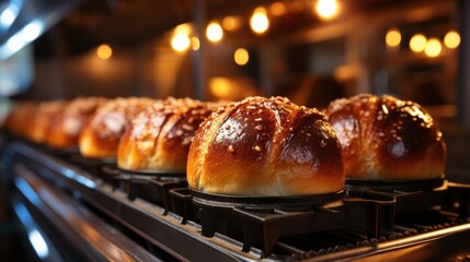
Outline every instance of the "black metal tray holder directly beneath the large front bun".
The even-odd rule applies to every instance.
[[[245,252],[261,249],[263,257],[271,255],[283,237],[351,227],[374,238],[393,225],[393,201],[343,203],[343,191],[272,198],[207,194],[187,188],[170,192],[182,223],[196,219],[203,236],[223,234],[241,241]]]

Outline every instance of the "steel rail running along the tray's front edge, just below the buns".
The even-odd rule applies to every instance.
[[[33,175],[25,175],[27,172],[55,181],[180,260],[207,261],[210,258],[211,261],[255,261],[261,258],[261,252],[255,249],[242,252],[242,243],[236,240],[218,235],[204,237],[199,225],[191,222],[182,224],[180,216],[171,212],[163,214],[164,210],[158,205],[140,199],[129,200],[119,189],[57,157],[18,142],[11,143],[9,147],[21,158],[16,157],[13,164],[15,176],[34,179]],[[44,189],[43,196],[47,201],[57,201],[57,198],[47,194]]]

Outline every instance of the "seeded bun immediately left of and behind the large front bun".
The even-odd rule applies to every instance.
[[[190,98],[168,98],[140,112],[123,135],[117,165],[147,171],[186,170],[194,132],[215,106]]]

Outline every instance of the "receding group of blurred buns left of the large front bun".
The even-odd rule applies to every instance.
[[[191,98],[76,98],[20,104],[7,129],[122,169],[184,174],[195,130],[219,104]]]

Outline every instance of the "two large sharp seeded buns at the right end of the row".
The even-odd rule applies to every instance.
[[[219,108],[190,148],[190,188],[234,195],[340,191],[345,176],[421,181],[444,176],[446,145],[420,105],[362,94],[320,112],[286,98],[250,97]]]

